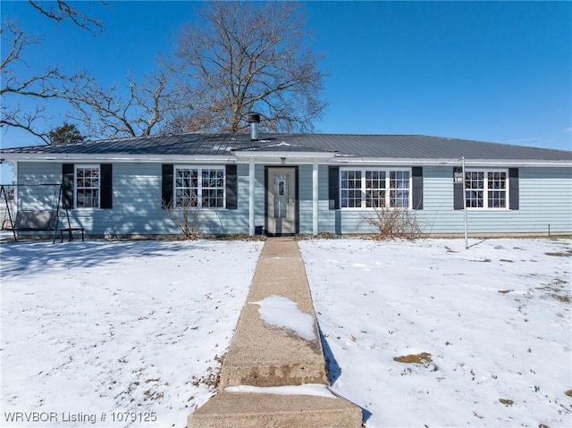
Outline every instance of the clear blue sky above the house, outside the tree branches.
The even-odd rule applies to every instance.
[[[94,37],[1,3],[42,39],[29,72],[59,64],[104,83],[153,71],[191,21],[193,2],[73,2],[104,21]],[[425,134],[572,149],[572,3],[308,2],[308,44],[324,55],[325,133]],[[5,52],[3,45],[3,52]],[[24,105],[24,104],[22,104]],[[26,106],[26,105],[24,105]],[[52,106],[55,126],[64,119]],[[2,130],[2,147],[38,141]],[[2,167],[3,182],[5,167]]]

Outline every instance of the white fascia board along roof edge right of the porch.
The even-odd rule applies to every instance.
[[[333,164],[347,165],[451,165],[460,164],[459,159],[413,159],[413,158],[381,158],[381,157],[352,157],[352,156],[336,156],[332,158]],[[465,159],[465,164],[469,166],[553,166],[553,167],[571,167],[572,161],[567,160],[523,160],[523,159]]]

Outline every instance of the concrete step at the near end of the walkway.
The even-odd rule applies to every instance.
[[[361,409],[346,399],[219,392],[189,415],[188,428],[359,428]]]

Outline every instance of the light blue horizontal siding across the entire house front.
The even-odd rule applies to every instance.
[[[76,163],[80,164],[80,163]],[[94,164],[85,163],[85,164]],[[407,165],[403,165],[408,167]],[[398,168],[398,167],[395,167]],[[507,169],[509,165],[507,165]],[[62,164],[18,163],[20,184],[62,181]],[[248,233],[248,164],[238,164],[238,209],[203,209],[206,234]],[[519,209],[468,210],[469,233],[572,232],[572,168],[520,167]],[[113,165],[113,209],[69,210],[71,225],[93,235],[178,234],[168,213],[161,208],[161,164]],[[462,233],[463,211],[453,210],[453,178],[450,166],[423,168],[424,209],[415,214],[426,233]],[[19,188],[20,209],[50,209],[53,189]],[[371,211],[328,209],[328,166],[318,167],[318,231],[372,232],[367,223]],[[312,233],[312,165],[299,165],[299,231]],[[265,165],[255,169],[255,224],[265,224]]]

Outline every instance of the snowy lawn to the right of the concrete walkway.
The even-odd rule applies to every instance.
[[[464,244],[299,242],[332,390],[368,428],[572,426],[572,242]]]

